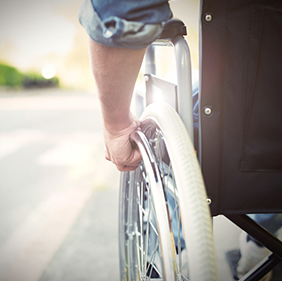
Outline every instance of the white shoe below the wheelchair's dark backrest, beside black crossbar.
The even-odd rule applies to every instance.
[[[248,271],[270,254],[270,251],[265,247],[258,246],[252,240],[247,240],[247,233],[245,232],[242,232],[240,235],[240,252],[241,258],[237,266],[238,278],[243,277]],[[271,276],[272,272],[269,272],[260,281],[269,281]]]

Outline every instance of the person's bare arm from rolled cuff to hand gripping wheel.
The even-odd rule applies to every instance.
[[[106,47],[92,39],[89,49],[104,120],[106,158],[120,171],[134,170],[141,155],[129,135],[139,129],[140,122],[131,114],[130,103],[145,49]]]

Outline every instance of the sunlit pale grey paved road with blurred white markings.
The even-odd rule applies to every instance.
[[[94,95],[0,94],[0,280],[118,280],[117,170]],[[215,219],[220,280],[238,230]]]

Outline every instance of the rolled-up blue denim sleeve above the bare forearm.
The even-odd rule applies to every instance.
[[[161,33],[172,12],[168,0],[84,0],[79,21],[97,43],[142,49]]]

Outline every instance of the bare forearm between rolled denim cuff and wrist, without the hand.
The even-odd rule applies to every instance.
[[[104,126],[110,132],[122,130],[132,122],[130,103],[145,49],[105,47],[91,39],[89,47]]]

